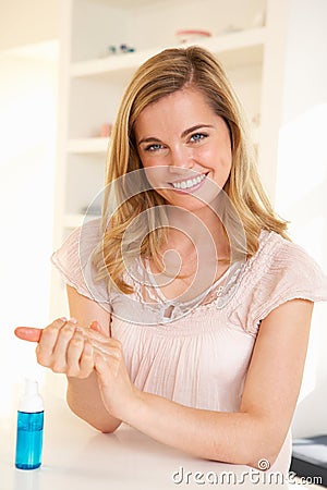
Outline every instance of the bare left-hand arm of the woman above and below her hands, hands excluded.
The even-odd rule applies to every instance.
[[[88,326],[96,319],[101,326],[101,333],[110,336],[110,314],[73,287],[68,285],[66,290],[71,316],[82,326]],[[113,432],[121,424],[106,409],[95,371],[86,379],[68,375],[66,401],[74,414],[102,432]]]

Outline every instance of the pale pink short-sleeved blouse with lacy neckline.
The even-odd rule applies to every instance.
[[[68,284],[111,311],[111,334],[123,345],[135,385],[186,406],[237,412],[261,320],[290,299],[327,301],[327,277],[318,265],[275,232],[263,230],[256,254],[233,264],[186,306],[166,299],[154,283],[144,290],[140,262],[125,278],[135,292],[108,294],[90,258],[99,240],[99,220],[89,221],[72,232],[52,262]],[[290,456],[289,432],[271,470],[287,473]]]

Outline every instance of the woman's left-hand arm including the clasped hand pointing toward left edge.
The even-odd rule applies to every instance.
[[[58,318],[45,329],[17,327],[15,334],[37,342],[36,357],[41,366],[66,375],[71,409],[102,432],[112,432],[121,420],[106,409],[95,372],[96,353],[102,353],[105,345],[107,354],[116,352],[117,341],[110,338],[110,315],[73,287],[68,289],[68,295],[74,317]]]

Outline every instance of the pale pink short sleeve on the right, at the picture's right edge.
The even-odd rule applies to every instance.
[[[252,292],[245,323],[250,333],[255,333],[261,320],[288,301],[327,301],[327,277],[299,245],[287,241],[277,244],[267,266],[257,274]]]

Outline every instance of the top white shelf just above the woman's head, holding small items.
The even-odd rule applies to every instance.
[[[257,27],[254,29],[239,30],[235,33],[223,34],[198,40],[190,45],[183,44],[173,47],[186,47],[193,44],[208,49],[209,51],[218,53],[228,53],[232,51],[242,51],[241,57],[244,58],[243,63],[246,64],[257,62],[257,51],[252,48],[263,47],[266,39],[266,27]],[[166,47],[167,48],[167,47]],[[164,49],[164,47],[161,48]],[[244,50],[249,50],[250,56],[244,57]],[[112,54],[107,58],[99,58],[96,60],[80,61],[73,63],[71,66],[72,77],[85,77],[112,74],[114,72],[122,72],[134,70],[140,66],[145,60],[158,53],[160,48],[153,48],[148,50],[136,51],[125,54]],[[240,61],[240,60],[239,60]]]

